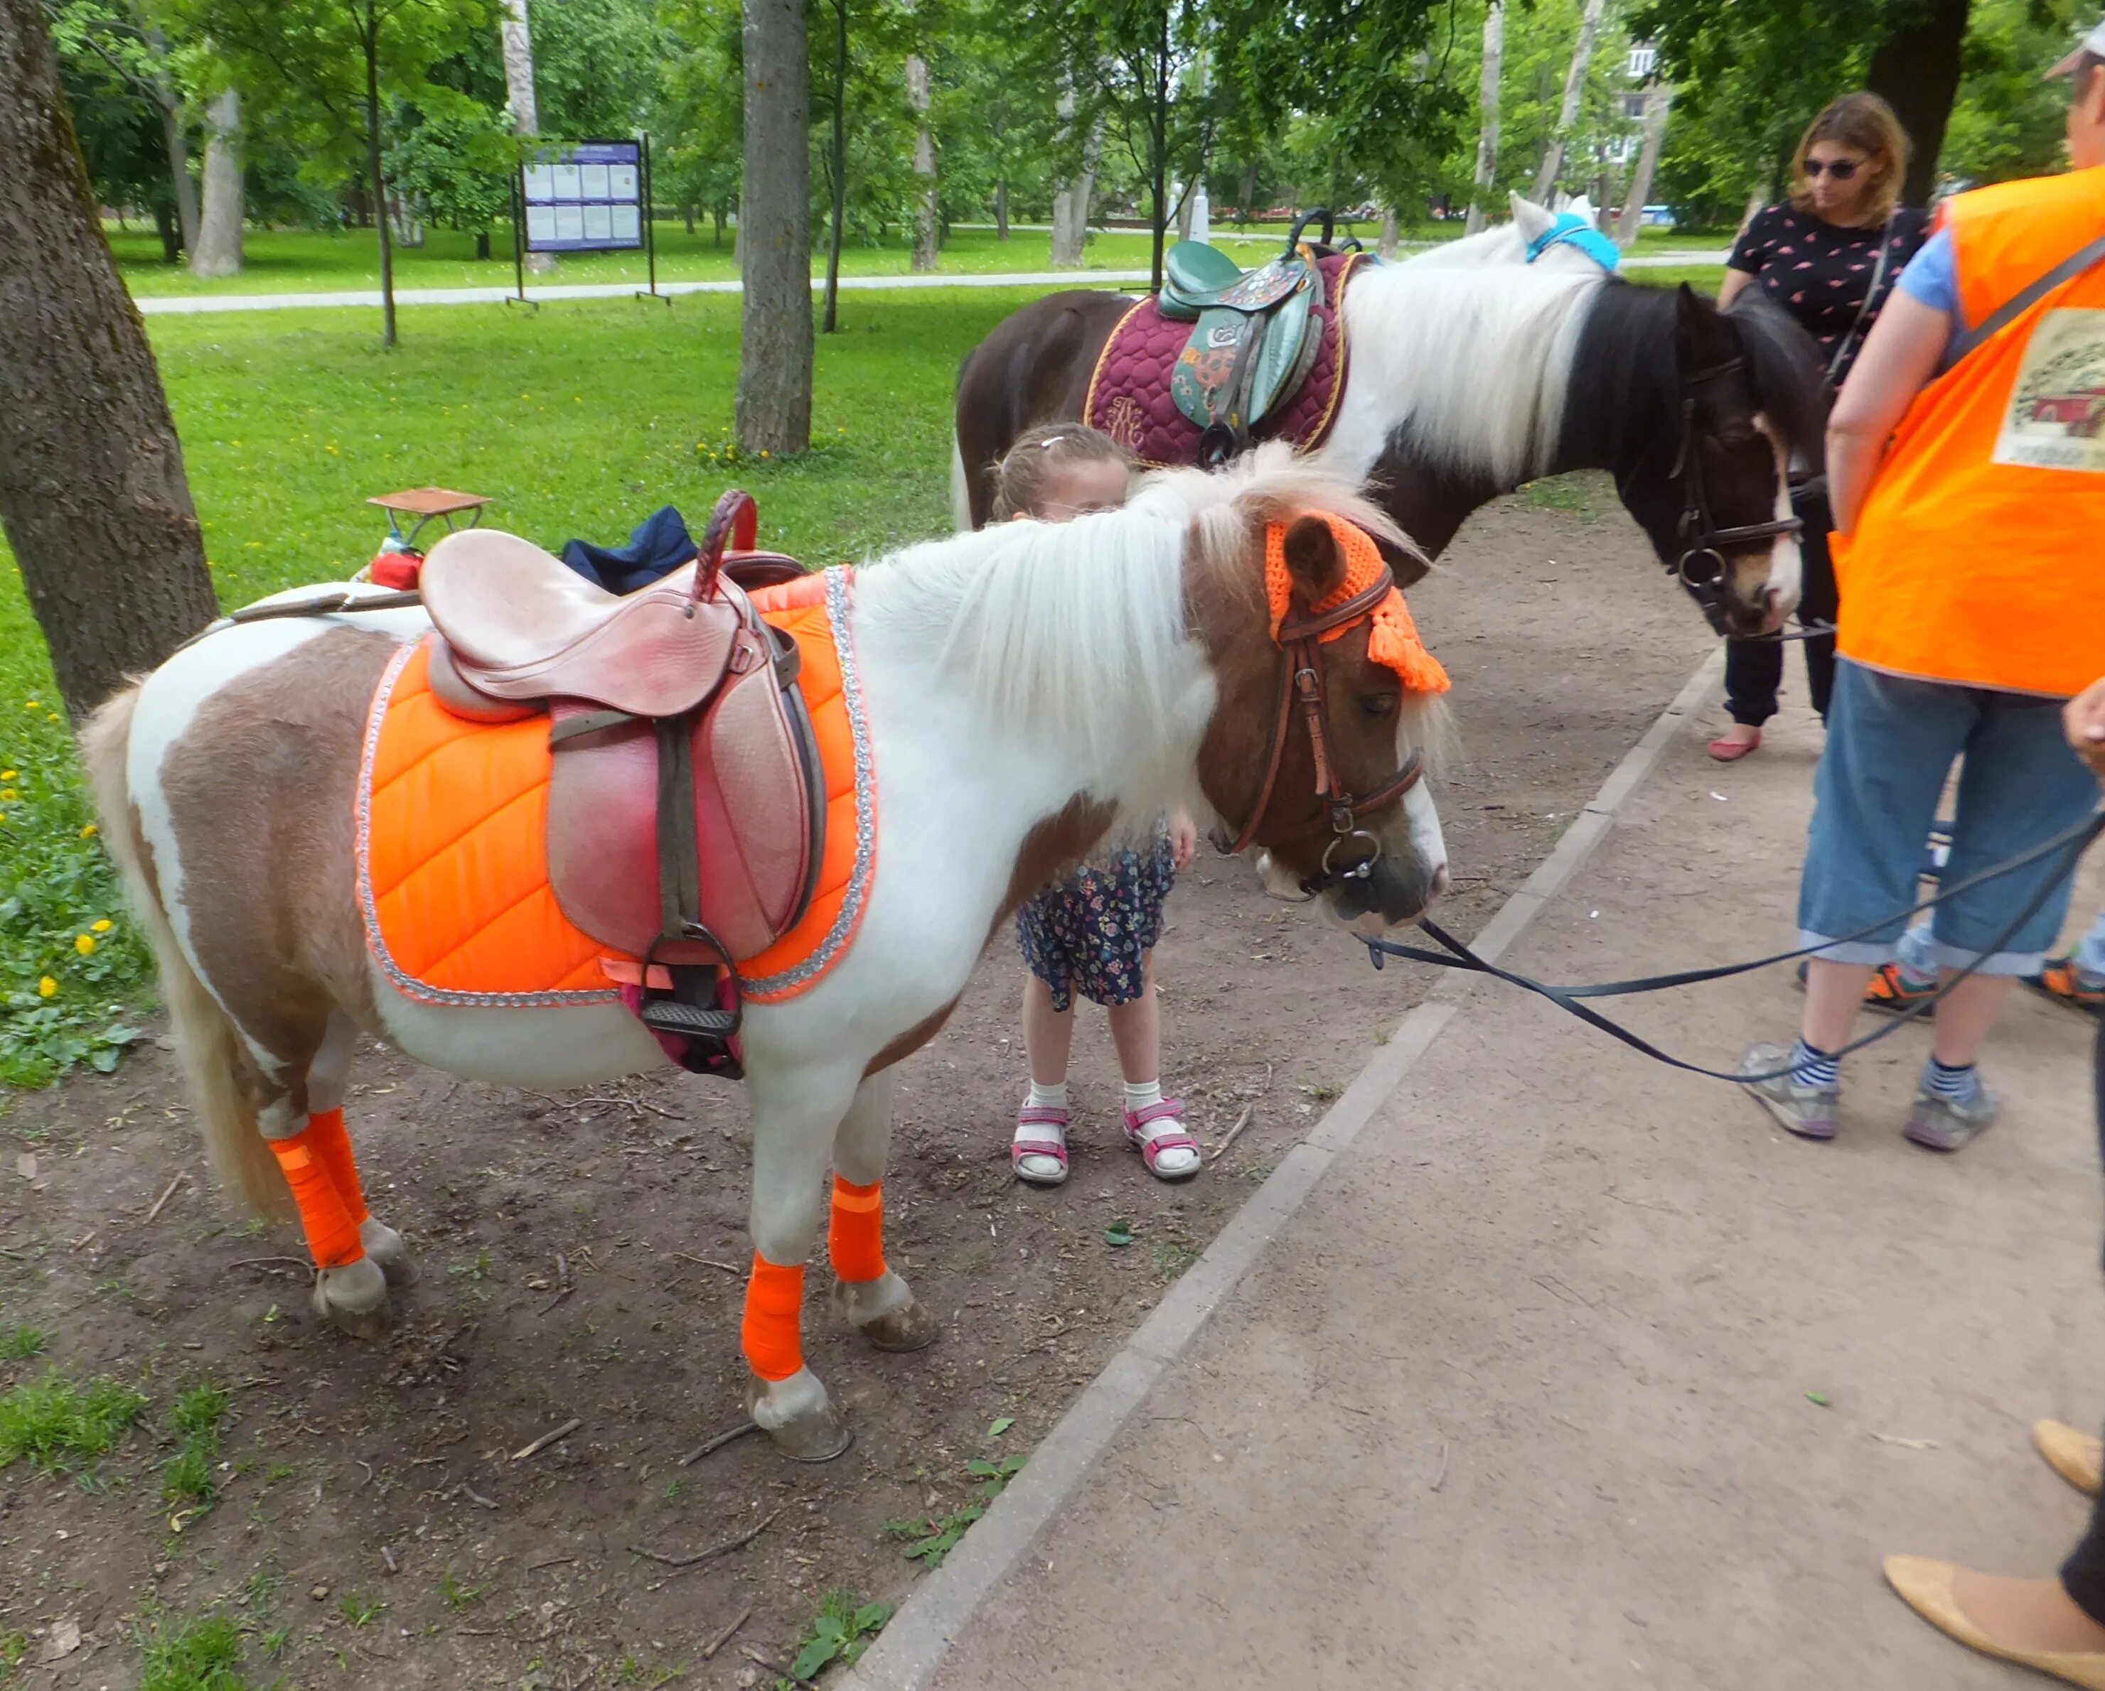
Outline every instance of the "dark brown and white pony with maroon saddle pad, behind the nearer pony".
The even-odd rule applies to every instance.
[[[987,519],[989,469],[1023,429],[1078,419],[1132,301],[1046,294],[996,326],[958,376],[951,488]],[[1810,337],[1762,294],[1728,311],[1593,265],[1360,267],[1349,364],[1309,463],[1358,486],[1438,555],[1480,505],[1524,482],[1606,469],[1661,562],[1720,633],[1768,633],[1798,604],[1787,459],[1821,465],[1827,398]],[[1711,536],[1753,530],[1745,538]]]

